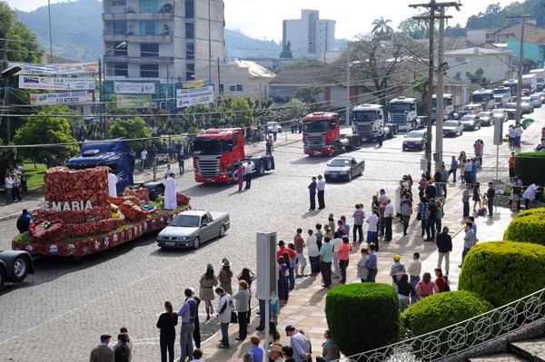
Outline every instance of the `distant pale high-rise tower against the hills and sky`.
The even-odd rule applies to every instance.
[[[301,19],[282,23],[282,49],[292,44],[293,58],[323,59],[326,52],[334,50],[335,21],[320,20],[318,10],[302,10]]]

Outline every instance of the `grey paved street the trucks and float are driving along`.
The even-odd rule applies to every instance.
[[[543,113],[538,109],[531,116]],[[485,144],[484,157],[495,158],[492,133],[493,127],[483,127],[445,139],[444,161],[450,163],[451,155],[458,156],[462,150],[472,154],[478,138]],[[0,296],[0,360],[84,361],[101,334],[114,335],[122,326],[134,338],[135,362],[157,360],[155,323],[163,302],[172,300],[174,308],[180,308],[183,289],[198,289],[206,264],[213,263],[217,272],[227,258],[235,272],[244,266],[254,269],[256,232],[277,231],[280,239],[292,240],[298,227],[313,228],[316,222],[326,221],[330,212],[336,217],[347,215],[352,223],[356,202],[368,209],[372,194],[381,188],[393,196],[403,174],[410,173],[418,181],[424,152],[401,152],[402,138],[385,141],[381,149],[365,144],[349,153],[364,159],[366,170],[350,183],[328,183],[325,210],[307,211],[307,186],[312,176],[323,174],[332,158],[305,156],[300,134],[279,135],[276,170],[254,178],[249,191],[238,192],[233,184],[196,184],[192,175],[183,175],[177,179],[178,186],[192,198],[193,209],[230,213],[232,229],[225,237],[197,250],[163,250],[156,247],[156,233],[152,233],[84,259],[36,259],[35,275],[21,284],[6,285]],[[251,145],[246,152],[264,154],[263,148],[264,144]],[[479,181],[488,182],[495,172],[495,168],[483,170]],[[506,175],[507,158],[500,157],[500,179]],[[15,233],[15,220],[0,222],[0,249],[11,249]],[[202,323],[202,329],[205,339],[219,326],[213,318]]]

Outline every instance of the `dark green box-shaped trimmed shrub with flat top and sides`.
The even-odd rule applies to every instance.
[[[387,346],[399,332],[399,298],[382,283],[353,283],[330,289],[325,317],[335,345],[345,356]]]

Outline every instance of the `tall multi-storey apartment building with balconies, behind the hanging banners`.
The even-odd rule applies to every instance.
[[[193,81],[196,67],[223,62],[223,7],[223,0],[103,1],[106,89],[113,81]]]

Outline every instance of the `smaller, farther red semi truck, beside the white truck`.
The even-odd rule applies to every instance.
[[[302,119],[304,153],[309,155],[351,151],[362,146],[360,134],[341,134],[337,113],[315,112]]]

